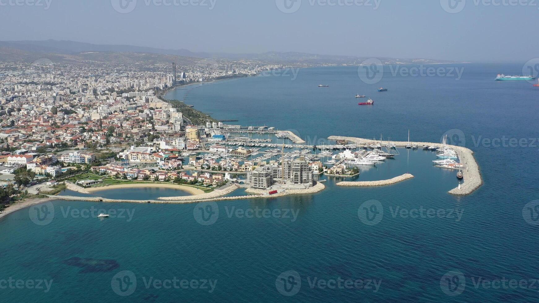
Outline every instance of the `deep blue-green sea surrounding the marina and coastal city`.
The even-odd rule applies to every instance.
[[[485,184],[473,194],[448,194],[455,172],[433,167],[432,152],[403,149],[357,177],[416,176],[388,187],[337,188],[341,179],[321,177],[327,189],[318,194],[213,205],[53,201],[0,220],[2,300],[538,301],[539,87],[494,81],[520,74],[516,64],[435,67],[464,71],[456,80],[393,76],[397,67],[385,67],[381,81],[367,84],[357,67],[308,68],[295,77],[196,84],[167,97],[239,120],[232,124],[294,130],[309,142],[406,140],[409,129],[412,140],[440,142],[448,133],[475,152]],[[378,93],[380,86],[389,91]],[[358,106],[356,94],[375,104]],[[34,215],[51,210],[44,221]],[[108,219],[92,216],[111,210]],[[52,283],[47,292],[9,287],[10,277]]]

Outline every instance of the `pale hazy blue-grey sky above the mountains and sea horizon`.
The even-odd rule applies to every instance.
[[[539,57],[537,0],[129,1],[0,0],[0,40],[473,62]]]

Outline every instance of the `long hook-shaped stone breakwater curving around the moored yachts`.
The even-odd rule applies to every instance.
[[[331,136],[328,139],[330,140],[348,140],[350,142],[355,142],[358,145],[363,145],[367,143],[379,143],[380,145],[384,145],[387,143],[387,141],[381,141],[381,140],[373,140],[373,139],[363,139],[363,138],[356,138],[356,137],[341,137],[341,136]],[[406,144],[417,144],[419,146],[421,145],[428,145],[428,146],[438,146],[443,147],[444,144],[442,143],[432,143],[432,142],[395,142],[391,141],[391,143],[395,144],[396,146],[405,147]],[[456,146],[456,145],[446,145],[448,147],[451,147],[453,150],[455,150],[459,154],[460,163],[464,165],[465,168],[462,168],[462,173],[464,174],[464,183],[459,184],[458,187],[455,187],[451,189],[448,193],[452,195],[469,195],[473,193],[476,189],[481,187],[483,185],[483,178],[481,177],[481,172],[479,170],[479,165],[475,161],[475,158],[473,157],[473,151],[470,149],[467,149],[466,147],[462,146]]]

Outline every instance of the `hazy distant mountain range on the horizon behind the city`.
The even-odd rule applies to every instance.
[[[123,53],[123,55],[122,55]],[[0,61],[31,61],[46,57],[53,61],[109,61],[115,60],[133,62],[132,55],[126,53],[137,53],[135,60],[154,60],[156,62],[172,59],[178,61],[195,62],[196,58],[211,58],[217,61],[256,61],[261,64],[282,64],[299,66],[316,65],[358,65],[368,57],[353,57],[340,55],[320,55],[299,52],[266,52],[261,54],[230,54],[230,53],[206,53],[191,52],[189,50],[165,50],[154,47],[132,46],[132,45],[98,45],[65,40],[44,40],[44,41],[0,41]],[[43,54],[47,54],[44,56]],[[40,57],[41,56],[41,57]],[[27,57],[27,58],[25,58]],[[36,58],[38,57],[38,58]],[[53,57],[53,58],[50,58]],[[187,57],[187,58],[178,58]],[[433,59],[397,59],[378,58],[382,62],[402,63],[402,64],[435,64],[435,63],[457,63],[449,60]],[[178,62],[181,64],[181,62]]]

